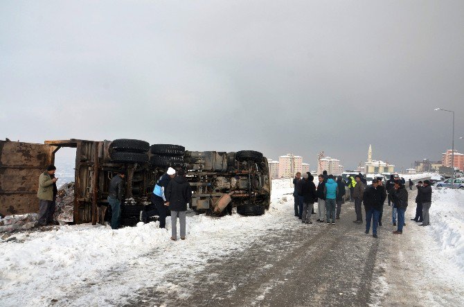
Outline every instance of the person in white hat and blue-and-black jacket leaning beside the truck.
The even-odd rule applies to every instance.
[[[153,193],[150,195],[150,200],[156,209],[151,211],[142,211],[143,222],[148,223],[148,218],[150,218],[150,216],[154,216],[156,211],[158,211],[159,228],[166,228],[166,216],[168,215],[169,202],[166,200],[166,196],[164,195],[164,189],[174,177],[176,177],[176,170],[172,167],[168,168],[168,171],[159,177],[157,184],[154,185]]]

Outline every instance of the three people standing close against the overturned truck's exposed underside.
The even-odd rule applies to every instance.
[[[148,223],[150,216],[159,216],[159,227],[166,228],[168,209],[171,215],[171,240],[177,240],[177,218],[180,223],[180,238],[186,239],[186,211],[192,204],[192,188],[185,177],[185,170],[168,168],[154,185],[150,200],[154,205],[151,211],[142,211],[141,219]],[[121,200],[123,199],[123,179],[125,171],[120,170],[109,182],[108,202],[111,205],[111,228],[118,229],[121,216]]]

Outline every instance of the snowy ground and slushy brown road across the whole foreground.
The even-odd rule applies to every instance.
[[[274,180],[265,216],[188,218],[185,241],[170,241],[154,222],[16,234],[0,243],[0,305],[463,306],[459,251],[444,254],[437,229],[409,220],[416,191],[404,234],[391,233],[386,205],[375,239],[352,222],[350,203],[337,225],[302,225],[289,183]],[[434,202],[461,202],[459,193],[437,191]],[[455,218],[459,229],[464,217]],[[446,246],[462,249],[457,242]]]

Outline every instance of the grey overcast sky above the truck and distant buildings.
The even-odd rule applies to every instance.
[[[464,150],[464,1],[0,1],[0,138],[409,168]]]

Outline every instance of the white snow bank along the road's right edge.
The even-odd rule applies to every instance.
[[[443,254],[464,272],[464,191],[434,188],[427,227]]]

